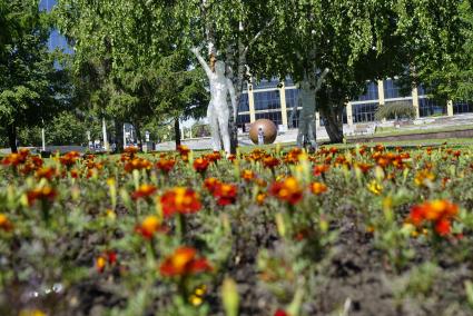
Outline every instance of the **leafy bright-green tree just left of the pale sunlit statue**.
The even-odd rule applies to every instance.
[[[200,72],[189,68],[188,51],[176,45],[171,8],[158,10],[151,1],[63,0],[57,9],[76,51],[75,68],[86,76],[99,70],[92,71],[99,80],[91,80],[97,92],[85,101],[96,100],[96,108],[116,121],[132,122],[139,140],[154,117],[198,116],[205,99]],[[90,60],[99,67],[88,67]]]

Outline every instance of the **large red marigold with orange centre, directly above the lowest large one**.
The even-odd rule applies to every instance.
[[[161,196],[162,213],[166,217],[175,213],[191,214],[201,208],[199,195],[189,188],[176,187]]]

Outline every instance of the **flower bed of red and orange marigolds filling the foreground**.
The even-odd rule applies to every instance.
[[[7,156],[0,314],[469,315],[472,155]]]

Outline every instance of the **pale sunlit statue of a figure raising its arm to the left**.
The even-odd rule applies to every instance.
[[[207,118],[211,130],[211,141],[215,151],[221,149],[221,140],[224,141],[224,150],[230,154],[230,135],[228,132],[229,108],[227,102],[228,92],[230,93],[231,106],[236,109],[235,88],[230,79],[225,77],[225,62],[213,60],[213,68],[207,65],[199,53],[198,48],[193,48],[191,52],[207,73],[210,82],[210,102],[207,108]],[[215,58],[215,57],[214,57]]]

